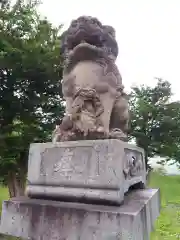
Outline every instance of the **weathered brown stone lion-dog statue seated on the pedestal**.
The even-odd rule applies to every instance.
[[[126,140],[128,99],[115,64],[115,30],[96,18],[79,17],[63,33],[61,51],[66,114],[53,132],[53,141]]]

